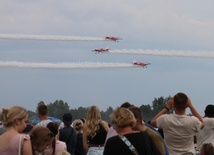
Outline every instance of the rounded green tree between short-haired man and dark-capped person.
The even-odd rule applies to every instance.
[[[65,112],[70,112],[69,105],[63,100],[56,100],[54,103],[47,104],[48,115],[61,119]]]

